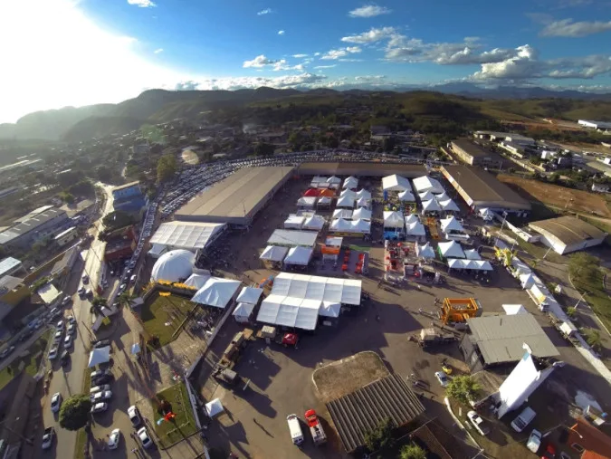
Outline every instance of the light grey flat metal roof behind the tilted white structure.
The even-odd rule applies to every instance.
[[[523,343],[530,346],[535,357],[558,355],[532,314],[476,317],[467,319],[467,324],[486,364],[517,362],[524,355]]]

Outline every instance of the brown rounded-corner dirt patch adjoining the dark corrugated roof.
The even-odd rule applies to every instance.
[[[312,382],[318,389],[320,399],[327,403],[389,375],[384,362],[375,352],[359,352],[317,369],[312,375]]]

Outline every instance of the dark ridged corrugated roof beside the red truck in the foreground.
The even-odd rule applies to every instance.
[[[425,412],[425,406],[399,375],[378,379],[331,400],[327,408],[348,453],[364,445],[365,435],[387,418],[399,427]]]

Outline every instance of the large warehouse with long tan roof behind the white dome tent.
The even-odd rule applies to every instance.
[[[293,167],[244,167],[182,206],[175,218],[250,226],[292,173]]]

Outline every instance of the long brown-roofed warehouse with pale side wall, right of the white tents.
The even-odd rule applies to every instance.
[[[442,174],[473,210],[490,209],[526,216],[530,202],[509,186],[501,183],[490,172],[477,167],[443,166]]]

